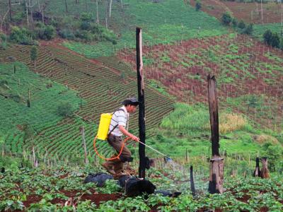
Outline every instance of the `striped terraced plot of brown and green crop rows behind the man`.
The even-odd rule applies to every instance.
[[[120,107],[120,102],[124,98],[137,95],[137,81],[129,76],[122,76],[122,71],[131,72],[129,66],[122,62],[112,66],[111,61],[90,61],[77,54],[71,54],[66,49],[41,46],[35,70],[33,63],[26,57],[29,54],[30,47],[26,46],[17,46],[0,52],[1,58],[8,60],[13,57],[27,64],[41,76],[63,84],[67,90],[76,90],[77,96],[82,99],[81,102],[76,102],[79,110],[75,112],[73,118],[63,119],[62,122],[47,125],[38,131],[35,137],[38,151],[41,154],[48,153],[50,156],[58,155],[58,157],[79,153],[82,151],[79,127],[84,124],[88,151],[93,153],[92,141],[100,114],[112,112]],[[173,100],[148,86],[145,96],[146,129],[152,134],[151,129],[158,126],[162,117],[173,110]],[[135,133],[137,133],[137,118],[137,113],[131,116],[129,126]],[[11,133],[6,139],[9,146],[14,146],[13,149],[21,150],[23,134]],[[25,147],[29,148],[30,145],[28,143]],[[105,146],[101,148],[103,152],[111,154]]]

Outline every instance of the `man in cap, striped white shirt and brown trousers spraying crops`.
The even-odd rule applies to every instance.
[[[112,115],[107,139],[110,146],[112,146],[117,153],[119,153],[122,148],[122,135],[131,138],[133,141],[139,141],[137,136],[134,136],[127,130],[127,126],[129,126],[129,114],[137,110],[139,101],[137,98],[127,98],[122,101],[121,104],[123,106],[116,110]],[[116,156],[117,155],[114,155],[113,158]],[[132,162],[132,160],[131,152],[124,146],[120,157],[115,160],[108,160],[103,163],[103,167],[105,167],[115,179],[118,179],[122,175],[127,175],[123,172],[123,164],[125,162]]]

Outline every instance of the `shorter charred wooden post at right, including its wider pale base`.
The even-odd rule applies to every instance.
[[[219,118],[216,79],[207,76],[210,128],[212,131],[212,159],[210,160],[209,193],[223,193],[223,158],[219,154]]]

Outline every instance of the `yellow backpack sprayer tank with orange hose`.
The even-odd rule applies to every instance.
[[[124,110],[118,109],[118,110],[115,110],[115,112],[116,111],[124,111]],[[115,160],[115,159],[119,158],[120,155],[122,154],[123,148],[125,147],[125,143],[130,139],[129,137],[127,137],[124,140],[124,142],[122,143],[121,150],[116,157],[105,158],[105,157],[103,157],[103,155],[100,155],[98,153],[98,150],[96,148],[96,140],[99,139],[99,140],[107,141],[108,135],[111,134],[112,131],[118,126],[118,124],[116,126],[114,126],[113,129],[108,133],[109,127],[110,127],[110,122],[111,122],[113,114],[114,114],[114,112],[113,113],[103,113],[103,114],[101,114],[100,122],[99,122],[99,126],[98,126],[98,133],[93,140],[94,151],[96,151],[96,154],[98,155],[98,157],[103,158],[104,160]]]

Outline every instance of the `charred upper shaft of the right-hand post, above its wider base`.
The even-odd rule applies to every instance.
[[[216,79],[214,76],[207,76],[208,83],[208,100],[210,114],[210,128],[212,131],[212,156],[219,155],[219,119],[218,104],[216,93]]]

